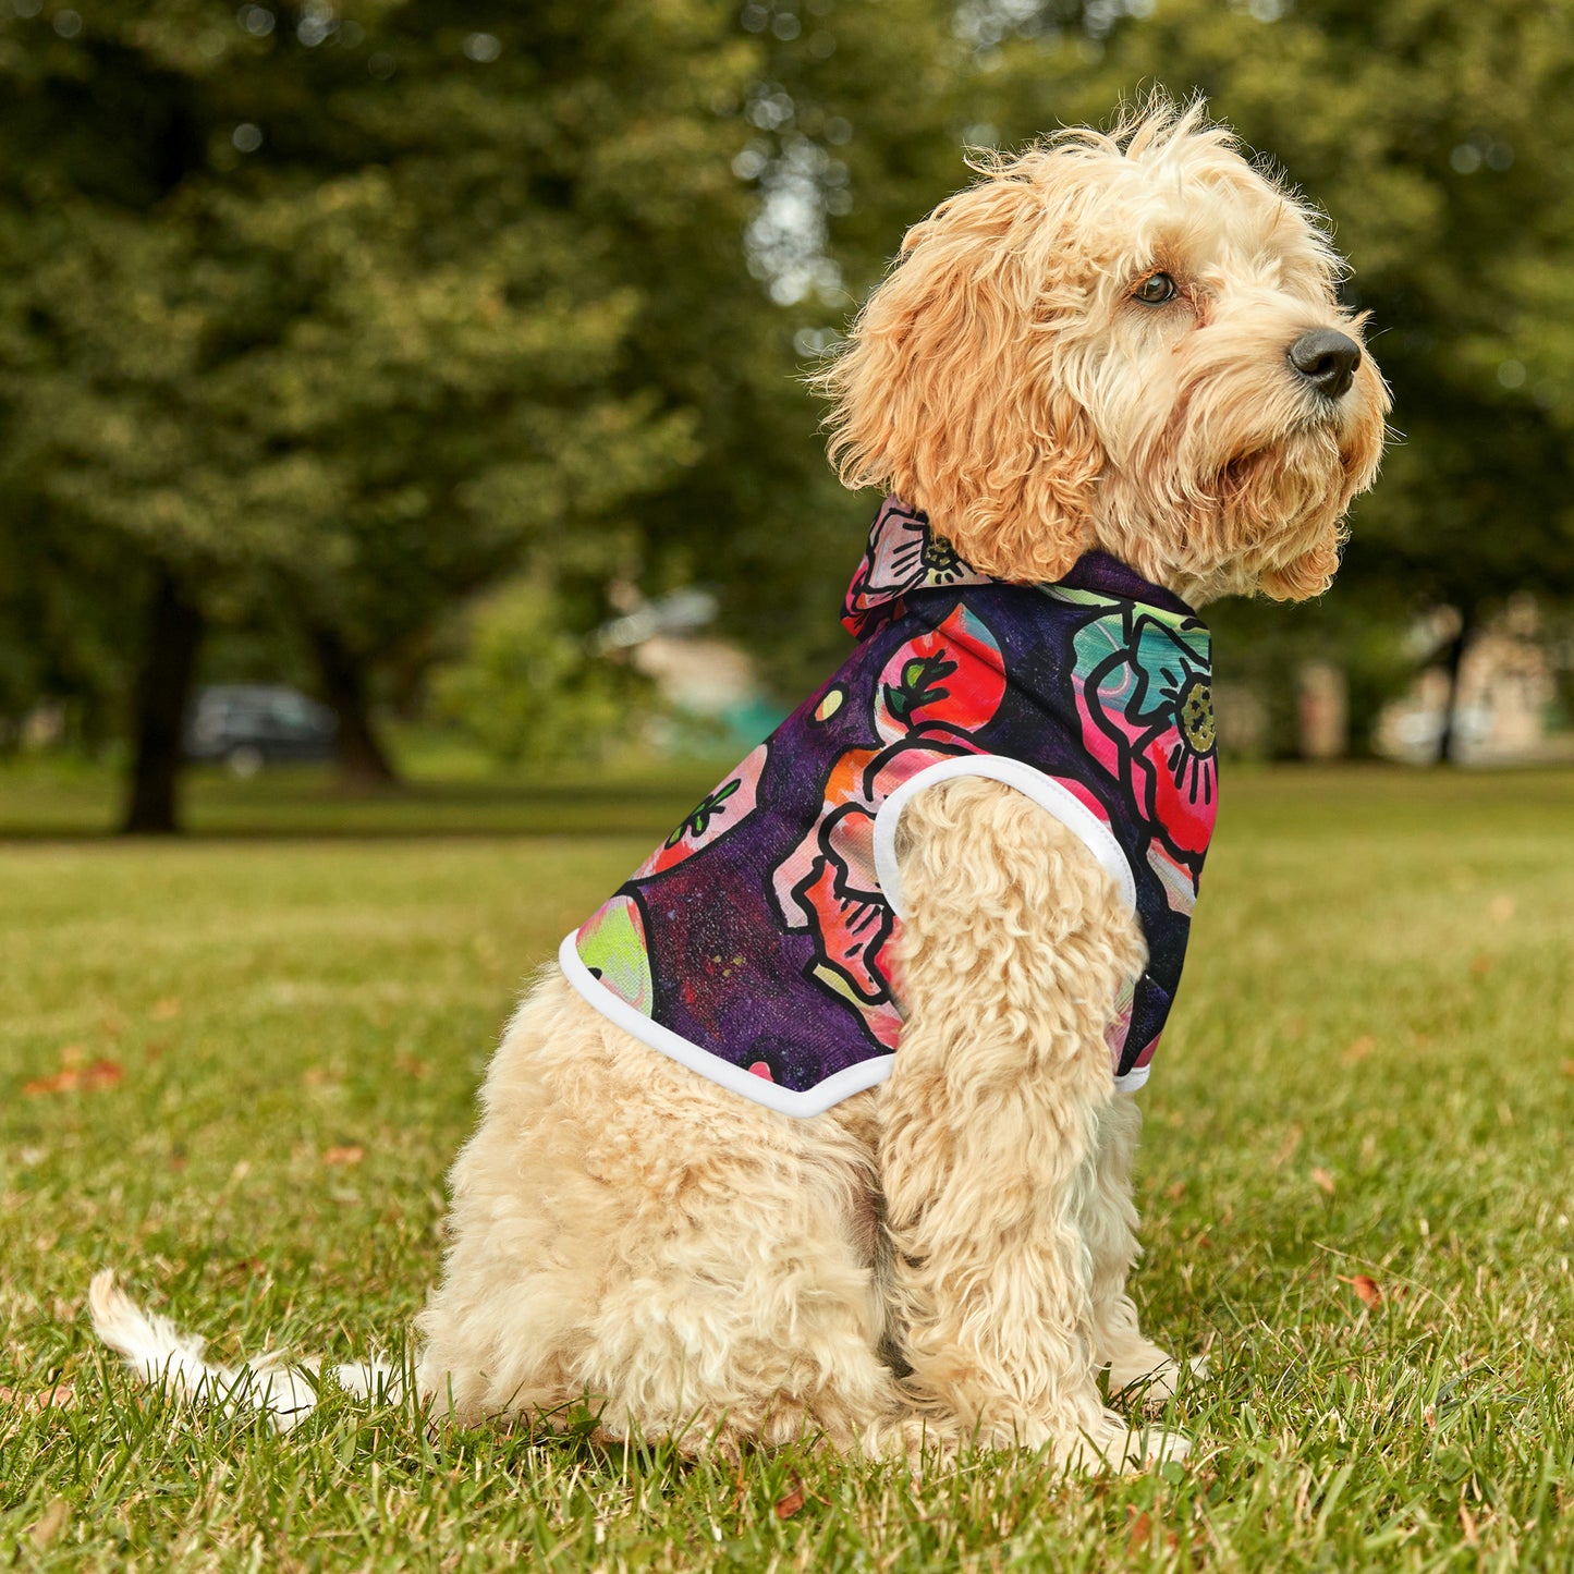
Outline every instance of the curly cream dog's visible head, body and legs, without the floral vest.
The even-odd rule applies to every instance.
[[[1199,109],[1062,132],[908,233],[823,378],[833,455],[996,579],[1102,551],[1192,606],[1317,595],[1387,412],[1338,274]],[[1127,1295],[1140,1118],[1107,1029],[1144,966],[1130,902],[1003,781],[913,796],[896,853],[900,1045],[818,1114],[740,1097],[540,977],[453,1168],[420,1316],[439,1412],[589,1399],[608,1435],[727,1454],[1184,1451],[1097,1387],[1176,1379]],[[94,1313],[145,1371],[192,1354],[102,1275]]]

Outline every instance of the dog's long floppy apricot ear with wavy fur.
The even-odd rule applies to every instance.
[[[914,225],[815,379],[844,485],[889,488],[1003,579],[1059,579],[1092,545],[1103,467],[1058,365],[1056,162],[999,165]]]

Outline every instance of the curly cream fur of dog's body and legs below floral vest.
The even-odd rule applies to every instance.
[[[1105,1210],[1105,1122],[1135,1111],[1102,1003],[1141,966],[1136,924],[1083,844],[995,782],[922,795],[902,841],[911,1025],[888,1083],[812,1121],[543,976],[453,1168],[422,1391],[461,1421],[589,1401],[609,1437],[724,1454],[1180,1451],[1099,1399],[1135,1237],[1122,1218],[1089,1250],[1081,1223]],[[981,878],[981,842],[1018,856]]]

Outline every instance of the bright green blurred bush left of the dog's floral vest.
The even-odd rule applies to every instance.
[[[540,579],[501,586],[464,622],[464,653],[436,667],[433,699],[502,765],[595,759],[653,711],[650,685],[590,655]]]

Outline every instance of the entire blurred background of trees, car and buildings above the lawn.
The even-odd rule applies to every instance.
[[[730,762],[875,504],[803,376],[968,146],[1154,85],[1402,434],[1209,612],[1225,749],[1574,759],[1574,0],[0,0],[0,829]]]

